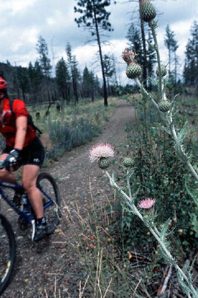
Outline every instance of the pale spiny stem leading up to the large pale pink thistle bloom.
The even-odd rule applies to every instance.
[[[144,220],[142,214],[138,211],[138,209],[136,208],[135,204],[132,202],[132,200],[130,199],[130,197],[117,185],[117,183],[114,181],[114,179],[111,178],[111,176],[109,175],[109,173],[107,171],[105,171],[105,174],[108,177],[108,179],[110,181],[110,184],[123,195],[123,197],[126,200],[127,205],[130,207],[130,209],[133,211],[133,213],[135,213],[141,219],[141,221],[144,223],[144,225],[149,229],[149,231],[151,232],[151,234],[154,236],[154,238],[160,244],[161,248],[163,249],[163,251],[165,252],[166,256],[168,257],[170,263],[173,264],[173,266],[175,267],[175,269],[181,274],[182,278],[187,282],[189,288],[191,289],[191,293],[194,295],[193,297],[194,298],[198,298],[198,293],[196,292],[195,288],[193,287],[193,285],[189,281],[188,277],[185,275],[185,273],[183,272],[183,270],[177,265],[177,262],[175,261],[175,259],[171,255],[171,253],[168,251],[168,249],[167,249],[166,245],[164,244],[163,240],[161,240],[161,238],[158,236],[159,235],[158,234],[159,232],[158,232],[157,228],[155,227],[156,229],[153,229],[152,227],[150,227],[148,225],[148,223]],[[127,185],[128,185],[128,187],[130,187],[130,183],[128,183],[128,181],[129,181],[129,175],[127,173]],[[156,231],[156,233],[155,233],[154,230]]]

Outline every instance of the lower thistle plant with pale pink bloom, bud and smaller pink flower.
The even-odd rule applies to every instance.
[[[99,162],[101,158],[108,159],[109,161],[109,157],[113,157],[113,155],[113,147],[110,144],[106,143],[96,144],[89,151],[89,159],[91,162]],[[123,160],[123,164],[126,170],[127,190],[124,191],[123,188],[116,183],[114,174],[110,175],[109,172],[105,169],[104,173],[108,177],[110,185],[114,189],[116,189],[123,197],[126,205],[126,211],[138,216],[142,223],[148,228],[153,237],[157,240],[157,242],[160,245],[162,255],[172,266],[175,267],[177,271],[178,280],[187,297],[198,298],[198,289],[195,289],[192,283],[192,266],[188,270],[186,270],[186,268],[181,268],[178,265],[176,258],[170,252],[171,247],[168,241],[168,234],[170,233],[170,231],[168,231],[170,219],[168,219],[163,225],[160,225],[159,227],[157,226],[155,220],[157,214],[154,211],[154,205],[157,204],[157,200],[155,201],[155,199],[143,199],[139,202],[138,205],[136,204],[138,191],[134,194],[132,194],[131,192],[130,178],[134,174],[134,169],[132,162],[126,163],[128,159],[132,161],[132,159],[129,157],[125,157]],[[144,210],[145,212],[142,210]]]

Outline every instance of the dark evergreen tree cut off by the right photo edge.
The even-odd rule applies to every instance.
[[[198,86],[198,22],[191,28],[191,38],[186,46],[184,66],[184,80],[189,86]]]

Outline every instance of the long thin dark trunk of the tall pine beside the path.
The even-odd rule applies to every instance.
[[[104,106],[108,107],[106,79],[105,79],[105,75],[104,75],[104,65],[103,65],[102,51],[101,51],[100,38],[99,38],[99,27],[98,27],[98,21],[97,21],[97,17],[96,17],[95,0],[92,0],[92,3],[93,3],[93,8],[94,8],[94,20],[95,20],[95,26],[96,26],[97,41],[98,41],[98,45],[99,45],[99,58],[100,58],[101,69],[102,69]]]

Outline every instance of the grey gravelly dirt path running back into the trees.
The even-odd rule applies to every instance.
[[[119,101],[115,114],[107,123],[103,133],[87,145],[80,146],[67,152],[59,162],[56,162],[44,172],[50,172],[57,178],[62,201],[63,211],[69,208],[75,216],[76,202],[81,211],[89,203],[90,180],[93,185],[94,199],[108,191],[107,183],[101,181],[102,171],[88,160],[88,150],[92,144],[108,142],[115,148],[115,158],[122,157],[122,148],[127,145],[124,129],[126,124],[134,119],[133,108],[125,101]],[[4,206],[3,206],[4,207]],[[3,208],[5,209],[5,208]],[[2,209],[1,209],[2,210]],[[11,284],[2,298],[48,298],[54,297],[54,284],[61,290],[61,298],[78,298],[78,256],[72,248],[75,243],[74,235],[78,227],[70,222],[64,236],[58,230],[48,240],[35,244],[30,235],[21,232],[15,222],[17,217],[7,210],[16,234],[17,261]],[[65,231],[65,220],[60,229]],[[69,294],[68,294],[69,293]],[[91,298],[91,297],[90,297]]]

